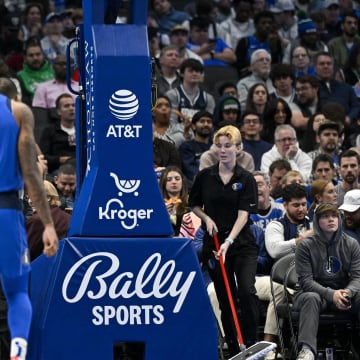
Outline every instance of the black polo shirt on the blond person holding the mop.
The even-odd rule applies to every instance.
[[[215,221],[218,227],[219,242],[229,235],[238,216],[238,210],[256,213],[258,208],[257,185],[253,175],[241,166],[236,165],[231,180],[224,185],[219,175],[219,164],[206,168],[198,173],[190,192],[189,206],[199,206]],[[251,253],[257,251],[255,239],[249,228],[250,220],[234,239],[228,255],[235,255],[244,248]],[[205,224],[202,224],[206,231]],[[204,256],[211,257],[215,249],[212,237],[206,233],[204,237]],[[250,250],[251,249],[251,250]]]

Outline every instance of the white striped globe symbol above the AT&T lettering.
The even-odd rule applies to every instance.
[[[109,109],[117,119],[130,120],[139,110],[139,100],[130,90],[117,90],[111,95]]]

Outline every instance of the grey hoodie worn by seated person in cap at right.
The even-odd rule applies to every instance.
[[[335,290],[349,289],[351,296],[360,291],[360,245],[339,228],[328,240],[315,214],[314,234],[296,247],[295,267],[302,291],[315,292],[333,301]]]

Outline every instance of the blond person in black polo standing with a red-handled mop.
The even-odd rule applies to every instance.
[[[249,213],[257,211],[257,186],[252,174],[236,165],[241,135],[235,126],[220,128],[214,135],[214,144],[219,163],[199,172],[190,192],[189,205],[206,230],[202,261],[214,281],[230,355],[235,355],[240,349],[217,260],[220,253],[226,258],[234,299],[238,300],[235,303],[240,305],[244,342],[252,345],[256,342],[258,324],[254,286],[258,248],[249,228]],[[214,233],[218,234],[219,252],[215,250]]]

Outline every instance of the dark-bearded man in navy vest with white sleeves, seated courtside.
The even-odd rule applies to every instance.
[[[265,229],[265,245],[269,255],[278,260],[294,253],[299,243],[312,234],[306,216],[306,190],[299,184],[283,189],[285,214],[280,220],[271,221]]]

